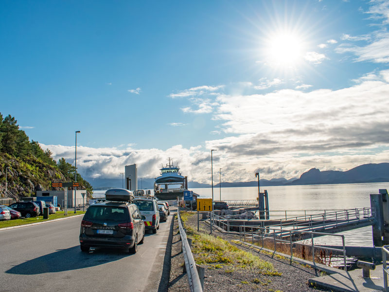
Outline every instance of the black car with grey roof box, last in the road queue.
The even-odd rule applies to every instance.
[[[106,202],[89,206],[81,221],[80,247],[124,248],[135,254],[143,243],[145,227],[141,212],[132,203],[133,194],[125,189],[106,191]]]

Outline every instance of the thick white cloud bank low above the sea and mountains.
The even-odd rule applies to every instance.
[[[292,178],[317,167],[347,170],[359,164],[389,161],[389,70],[369,73],[340,89],[283,89],[268,93],[232,94],[236,88],[198,87],[182,91],[193,106],[205,99],[208,114],[224,138],[185,148],[93,148],[77,146],[78,171],[91,178],[120,178],[124,166],[138,164],[138,175],[154,178],[168,157],[178,162],[191,181],[210,183],[222,168],[224,181]],[[235,86],[235,85],[234,85]],[[245,85],[247,86],[247,84]],[[210,90],[211,89],[211,90]],[[212,93],[212,94],[207,94]],[[188,95],[188,96],[185,96]],[[74,146],[43,145],[54,159],[74,163]]]

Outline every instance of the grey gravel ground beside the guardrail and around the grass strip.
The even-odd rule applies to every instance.
[[[187,225],[197,229],[197,216],[190,216]],[[208,224],[200,221],[200,232],[209,234],[210,227]],[[231,235],[222,234],[217,230],[213,230],[215,236],[222,237],[231,242],[236,240]],[[231,242],[234,244],[233,242]],[[263,253],[257,253],[254,250],[244,246],[236,245],[242,250],[248,251],[261,259],[273,264],[281,276],[264,275],[259,269],[240,269],[231,266],[223,266],[220,269],[214,269],[207,266],[204,279],[205,292],[248,292],[248,291],[293,291],[293,292],[313,292],[313,291],[328,291],[312,288],[308,286],[308,279],[320,276],[320,273],[305,267],[298,263],[290,264],[288,259],[272,257]],[[194,255],[195,256],[195,255]],[[196,256],[195,256],[196,258]],[[181,252],[181,241],[178,233],[177,217],[175,218],[173,227],[173,242],[171,255],[171,270],[169,292],[189,292],[188,276],[183,273],[184,258]]]

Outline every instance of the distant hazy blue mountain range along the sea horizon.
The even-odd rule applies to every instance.
[[[111,187],[122,187],[122,179],[92,179],[87,178],[95,190],[107,189]],[[273,185],[301,185],[301,184],[336,184],[336,183],[382,183],[389,182],[389,163],[363,164],[347,171],[325,170],[311,168],[301,174],[300,178],[286,180],[285,178],[260,180],[261,186]],[[250,182],[222,182],[222,187],[242,187],[257,186],[258,181]],[[142,179],[138,183],[138,188],[152,189],[154,179]],[[211,187],[208,183],[188,182],[188,188]],[[219,183],[213,185],[219,187]]]

